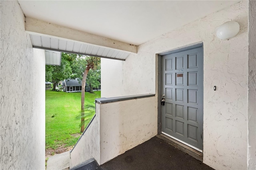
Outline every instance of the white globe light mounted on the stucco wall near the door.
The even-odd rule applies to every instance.
[[[236,36],[239,30],[240,25],[238,24],[238,22],[228,21],[222,24],[221,26],[218,26],[216,35],[218,38],[222,40],[228,40]]]

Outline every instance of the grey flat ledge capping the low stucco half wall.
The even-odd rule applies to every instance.
[[[120,102],[124,100],[132,100],[136,98],[147,98],[152,96],[155,96],[155,94],[139,94],[139,95],[132,95],[132,96],[112,97],[112,98],[96,98],[95,102],[103,104],[103,103],[111,103],[111,102]]]

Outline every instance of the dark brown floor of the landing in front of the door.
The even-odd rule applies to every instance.
[[[153,137],[124,154],[98,166],[96,162],[79,170],[213,170],[164,140]]]

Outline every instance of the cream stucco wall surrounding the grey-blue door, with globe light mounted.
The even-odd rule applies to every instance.
[[[230,40],[218,39],[216,27],[230,20],[240,24],[240,32]],[[214,169],[246,169],[247,24],[248,2],[244,1],[138,46],[138,54],[130,55],[122,65],[102,60],[102,77],[106,76],[102,78],[102,96],[156,93],[155,54],[203,42],[203,162]],[[119,80],[117,88],[112,88],[112,80]],[[157,102],[150,105],[157,107]]]

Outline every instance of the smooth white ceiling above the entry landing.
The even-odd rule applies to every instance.
[[[239,0],[18,2],[26,17],[140,45]]]

